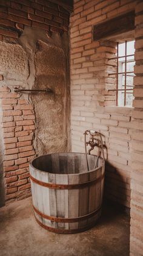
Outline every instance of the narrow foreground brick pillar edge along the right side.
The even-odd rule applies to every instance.
[[[130,228],[130,252],[131,256],[142,255],[143,252],[143,2],[136,4],[136,30],[135,30],[135,100],[133,106],[132,130],[132,169],[131,172],[131,228]]]

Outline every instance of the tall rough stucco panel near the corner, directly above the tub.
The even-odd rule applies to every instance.
[[[35,149],[38,155],[67,150],[66,61],[64,51],[40,41],[35,54],[35,88],[52,88],[53,94],[32,96],[36,113]]]

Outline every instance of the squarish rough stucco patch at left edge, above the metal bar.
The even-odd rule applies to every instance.
[[[27,56],[18,44],[0,43],[0,70],[8,73],[18,73],[26,76]]]

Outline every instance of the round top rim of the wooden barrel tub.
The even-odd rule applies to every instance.
[[[82,155],[85,155],[85,153],[81,153],[81,152],[55,152],[55,153],[50,153],[50,154],[45,154],[45,155],[52,155],[52,154],[82,154]],[[39,155],[39,157],[35,157],[34,159],[30,160],[29,162],[29,165],[30,167],[36,169],[36,171],[39,171],[39,172],[44,172],[44,173],[47,173],[47,174],[58,174],[58,175],[62,175],[62,176],[71,176],[71,175],[74,175],[74,176],[78,176],[78,175],[81,175],[81,174],[87,174],[87,173],[91,173],[93,171],[97,171],[98,169],[102,168],[102,167],[105,167],[105,162],[104,162],[104,159],[102,157],[99,157],[101,160],[102,160],[102,163],[101,165],[98,167],[98,168],[95,168],[95,169],[92,169],[91,171],[88,171],[88,172],[80,172],[80,173],[66,173],[66,174],[63,174],[63,173],[53,173],[53,172],[47,172],[47,171],[42,171],[40,169],[37,169],[35,168],[35,166],[33,166],[33,161],[37,158],[40,158],[40,157],[43,157],[45,155]],[[90,154],[91,155],[91,154]],[[93,157],[98,157],[97,155],[92,155]]]

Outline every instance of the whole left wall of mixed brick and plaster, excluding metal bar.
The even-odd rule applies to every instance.
[[[69,12],[50,1],[7,0],[1,2],[0,16],[4,204],[30,196],[28,162],[33,157],[70,150]],[[48,87],[53,93],[15,93],[15,87]]]

